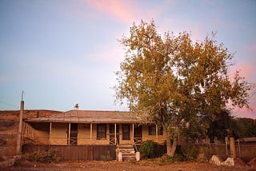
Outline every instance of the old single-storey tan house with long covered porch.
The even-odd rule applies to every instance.
[[[142,120],[130,112],[70,110],[46,117],[25,118],[24,122],[23,144],[30,145],[30,149],[33,145],[97,146],[109,147],[114,154],[113,149],[122,145],[136,149],[142,141],[153,140],[160,144],[166,141],[166,131],[161,126],[150,122],[142,124]]]

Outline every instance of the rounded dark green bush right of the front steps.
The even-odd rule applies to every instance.
[[[156,145],[157,144],[151,140],[142,141],[142,144],[139,147],[139,152],[141,153],[142,157],[154,158],[155,157],[154,147]]]

